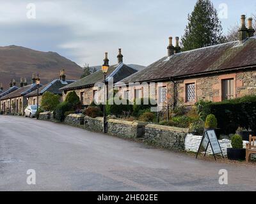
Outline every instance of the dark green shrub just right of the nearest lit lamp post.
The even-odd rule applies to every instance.
[[[111,98],[107,101],[106,104],[106,114],[115,115],[116,117],[123,115],[123,112],[132,113],[132,105],[129,104],[129,100],[119,99],[122,103],[117,105],[114,98]]]

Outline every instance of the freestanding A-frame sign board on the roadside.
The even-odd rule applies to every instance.
[[[198,152],[196,154],[196,158],[198,157],[198,154],[201,151],[205,151],[204,156],[206,156],[206,152],[207,152],[207,149],[208,149],[209,145],[211,145],[212,153],[213,153],[213,156],[214,156],[215,160],[216,160],[215,154],[221,154],[222,157],[224,158],[223,152],[222,152],[221,147],[220,147],[220,143],[217,139],[217,136],[216,136],[216,133],[215,133],[214,129],[209,129],[209,130],[204,131],[204,136],[203,136],[202,141],[200,143]]]

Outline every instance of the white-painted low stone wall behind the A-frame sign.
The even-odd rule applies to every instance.
[[[188,134],[185,139],[185,150],[188,152],[197,152],[199,145],[201,143],[202,136],[196,136],[192,134]],[[227,157],[227,148],[231,148],[231,140],[223,139],[219,140],[221,150],[223,152],[223,156]],[[246,148],[247,141],[243,141],[244,148]],[[207,154],[212,154],[211,147],[208,148]],[[256,154],[252,154],[252,159],[256,159]]]

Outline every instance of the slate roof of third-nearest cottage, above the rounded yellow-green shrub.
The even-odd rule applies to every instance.
[[[72,84],[74,82],[76,81],[75,80],[62,81],[60,79],[53,80],[52,82],[46,85],[43,85],[38,89],[39,95],[44,94],[44,92],[46,91],[52,92],[54,94],[61,94],[60,88],[64,87],[65,85]],[[26,97],[31,97],[31,96],[37,96],[37,90],[26,95]]]

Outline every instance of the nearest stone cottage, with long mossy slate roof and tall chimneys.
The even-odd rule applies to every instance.
[[[191,106],[200,99],[218,102],[256,94],[256,37],[252,25],[252,18],[248,18],[247,28],[242,15],[239,41],[188,52],[180,52],[178,37],[173,47],[170,37],[168,56],[118,82],[120,95],[131,101],[150,96],[159,106],[175,107]],[[152,82],[156,83],[150,85],[154,91],[144,91]]]

